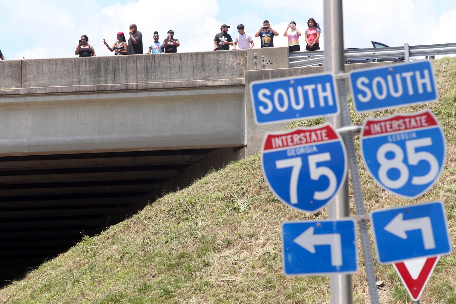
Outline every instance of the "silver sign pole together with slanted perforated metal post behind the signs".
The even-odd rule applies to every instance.
[[[334,75],[344,73],[344,50],[343,50],[343,22],[342,0],[324,0],[324,28],[325,28],[325,72]],[[336,80],[338,100],[340,101],[341,114],[328,117],[326,121],[333,124],[334,128],[350,126],[351,119],[347,104],[347,86],[345,78]],[[347,154],[352,174],[353,191],[355,195],[356,209],[359,216],[365,215],[363,195],[358,172],[358,161],[355,154],[355,146],[352,134],[344,134],[343,139],[347,148]],[[349,216],[348,185],[347,181],[342,187],[332,206],[328,207],[328,217],[337,219]],[[378,304],[377,285],[375,284],[375,271],[373,268],[372,252],[368,228],[365,219],[359,221],[359,231],[363,246],[364,263],[369,285],[371,303]],[[330,275],[331,303],[352,304],[352,276],[347,274]]]

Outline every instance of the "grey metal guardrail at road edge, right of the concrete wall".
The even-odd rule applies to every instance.
[[[373,47],[365,49],[345,50],[345,61],[385,58],[404,58],[406,62],[410,57],[416,56],[435,56],[456,54],[456,43],[443,43],[432,45],[409,46],[389,46]],[[290,67],[310,67],[324,62],[324,51],[315,52],[292,52],[290,53]]]

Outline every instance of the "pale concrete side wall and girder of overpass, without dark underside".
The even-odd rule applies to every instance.
[[[254,124],[249,83],[322,69],[289,68],[286,47],[3,61],[0,155],[244,145],[250,155],[283,126]]]

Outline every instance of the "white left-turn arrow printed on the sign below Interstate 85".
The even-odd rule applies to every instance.
[[[398,213],[384,229],[404,240],[407,239],[406,231],[421,230],[425,249],[435,248],[434,232],[432,231],[429,216],[404,220],[404,213],[401,212]]]

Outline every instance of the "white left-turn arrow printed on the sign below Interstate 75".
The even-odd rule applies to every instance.
[[[314,227],[309,227],[293,241],[308,252],[315,253],[315,245],[331,247],[331,265],[342,266],[342,242],[339,233],[314,234]]]

